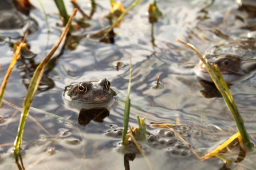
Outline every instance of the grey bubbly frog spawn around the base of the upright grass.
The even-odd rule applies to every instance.
[[[116,125],[110,125],[109,127],[111,129],[109,129],[105,135],[121,139],[123,129]],[[201,129],[191,129],[186,124],[175,125],[174,130],[182,137],[203,135],[203,131]],[[152,134],[148,132],[147,139],[150,147],[155,149],[165,149],[166,153],[172,157],[184,157],[191,155],[191,145],[184,144],[177,136],[175,136],[175,133],[169,129],[156,129],[155,133]],[[144,153],[149,153],[149,149],[147,149],[145,145],[140,144],[140,146]],[[118,143],[117,147],[120,149],[121,143]],[[129,141],[127,151],[139,153],[133,141]]]

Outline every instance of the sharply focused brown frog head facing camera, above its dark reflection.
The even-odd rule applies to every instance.
[[[78,110],[81,108],[109,107],[113,104],[116,92],[109,80],[102,78],[96,81],[80,82],[65,88],[64,102]]]

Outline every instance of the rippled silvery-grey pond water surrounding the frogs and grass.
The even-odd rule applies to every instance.
[[[37,54],[33,60],[23,59],[18,62],[27,64],[24,70],[14,67],[6,87],[4,99],[15,106],[22,107],[27,88],[23,82],[29,80],[33,72],[33,64],[38,64],[57,42],[60,31],[56,23],[61,23],[56,17],[58,11],[53,1],[43,1],[48,15],[50,34],[45,23],[44,13],[37,1],[31,1],[37,10],[31,11],[38,23],[38,31],[29,35],[27,43],[31,51]],[[89,14],[87,3],[78,1],[85,13]],[[111,5],[107,1],[96,1],[100,4],[90,21],[88,30],[82,33],[98,31],[108,26],[105,15],[109,13]],[[65,1],[68,13],[72,11],[69,1]],[[254,18],[247,17],[245,11],[238,11],[238,4],[234,1],[216,1],[206,9],[207,13],[199,12],[208,1],[159,1],[157,5],[163,17],[153,26],[145,15],[151,1],[143,1],[125,16],[121,27],[115,29],[115,44],[106,44],[82,38],[75,50],[65,50],[60,56],[52,71],[47,71],[41,90],[36,94],[32,107],[38,110],[56,114],[65,119],[46,116],[38,111],[30,110],[31,118],[27,118],[22,144],[22,161],[25,169],[124,169],[124,155],[120,153],[120,129],[123,126],[124,101],[127,94],[129,80],[129,54],[132,54],[132,87],[131,87],[131,114],[129,125],[137,127],[136,115],[145,116],[146,123],[178,123],[183,127],[176,127],[192,145],[194,149],[211,150],[213,145],[219,145],[230,135],[219,131],[215,126],[226,132],[237,132],[233,116],[227,109],[222,98],[204,98],[205,82],[200,81],[192,68],[184,68],[199,62],[198,56],[191,50],[176,42],[176,39],[194,44],[201,52],[207,53],[210,47],[221,44],[223,38],[212,33],[214,27],[219,27],[224,34],[229,35],[226,43],[248,38],[255,38],[253,30],[241,29],[245,25],[237,16],[245,17],[248,21]],[[123,1],[127,8],[131,1]],[[78,13],[77,17],[80,14]],[[199,19],[208,16],[209,19]],[[253,26],[251,26],[253,27]],[[78,34],[78,33],[76,33]],[[80,34],[80,33],[79,33]],[[78,35],[79,35],[78,34]],[[155,39],[153,46],[152,38]],[[254,41],[254,39],[252,39]],[[15,42],[15,40],[11,40]],[[227,49],[227,50],[226,50]],[[222,48],[224,52],[230,48]],[[235,46],[233,52],[254,58],[255,48],[249,46],[246,50]],[[0,45],[2,53],[1,80],[13,56],[12,48],[8,43]],[[222,51],[222,52],[223,52]],[[57,55],[60,49],[56,51]],[[116,70],[115,63],[123,62],[124,67]],[[23,64],[22,64],[23,65]],[[23,69],[23,70],[22,70]],[[162,88],[155,90],[152,87],[160,76]],[[111,86],[117,91],[117,103],[109,108],[109,114],[97,121],[90,121],[87,126],[78,123],[79,111],[68,109],[62,101],[64,87],[72,82],[97,80],[107,78]],[[239,112],[245,122],[250,139],[255,143],[255,75],[236,82],[230,86],[231,94],[237,103]],[[207,83],[206,83],[207,84]],[[208,87],[208,86],[207,86]],[[203,92],[202,92],[203,91]],[[212,90],[210,90],[212,91]],[[214,94],[216,95],[216,94]],[[15,140],[21,112],[15,112],[14,107],[4,104],[1,115],[1,169],[18,169],[11,159],[12,144]],[[15,114],[15,115],[14,115]],[[105,117],[105,119],[104,119]],[[36,120],[34,120],[36,119]],[[103,120],[104,119],[104,120]],[[38,126],[40,124],[42,127]],[[215,125],[215,126],[214,126]],[[136,152],[136,158],[129,161],[131,169],[220,169],[226,167],[223,160],[212,157],[206,161],[198,160],[186,145],[175,136],[170,136],[168,129],[147,126],[151,136],[156,141],[151,147],[144,148],[146,157]],[[167,133],[168,132],[168,133]],[[111,133],[111,135],[109,135]],[[169,134],[169,136],[168,136]],[[154,137],[153,137],[154,138]],[[154,138],[155,139],[155,138]],[[174,143],[171,143],[174,141]],[[155,143],[154,143],[155,142]],[[162,143],[162,144],[161,144]],[[171,143],[171,144],[170,144]],[[131,145],[132,151],[135,151]],[[236,160],[238,149],[234,149],[231,156]],[[251,161],[251,162],[250,162]],[[240,165],[231,164],[227,168],[235,169],[246,165],[255,168],[254,155],[246,155],[246,160]],[[245,168],[246,169],[246,168]]]

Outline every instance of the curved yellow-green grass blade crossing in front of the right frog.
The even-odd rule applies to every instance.
[[[208,64],[206,56],[204,56],[200,51],[198,51],[192,44],[183,42],[180,39],[177,39],[177,41],[182,43],[184,46],[190,48],[192,51],[196,52],[196,54],[198,54],[199,58],[202,60],[202,62],[206,66],[206,69],[209,72],[215,86],[218,88],[220,94],[222,94],[227,107],[229,108],[230,112],[233,114],[235,124],[237,124],[238,131],[241,133],[242,141],[246,147],[246,150],[253,151],[253,147],[251,146],[251,142],[250,142],[248,133],[246,131],[245,124],[243,123],[243,119],[238,112],[234,99],[230,94],[229,87],[227,87],[227,83],[225,82],[225,79],[223,78],[219,70],[219,67],[216,64],[214,65]]]

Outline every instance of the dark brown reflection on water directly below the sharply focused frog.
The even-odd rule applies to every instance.
[[[97,107],[86,109],[82,108],[78,115],[78,123],[81,126],[86,126],[90,121],[103,123],[103,119],[109,116],[109,110],[105,107]]]

